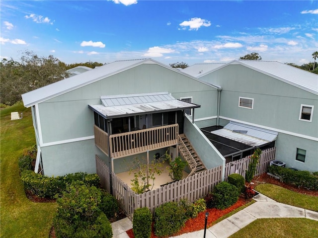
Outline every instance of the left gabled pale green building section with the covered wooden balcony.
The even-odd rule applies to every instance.
[[[115,173],[127,171],[136,156],[153,159],[169,149],[174,157],[180,135],[201,158],[184,156],[190,173],[225,164],[193,123],[215,117],[218,87],[152,59],[115,61],[22,99],[32,109],[36,162],[47,176],[95,173],[95,155]]]

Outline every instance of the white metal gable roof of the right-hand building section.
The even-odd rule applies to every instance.
[[[200,76],[208,75],[219,69],[227,67],[228,65],[242,65],[252,70],[258,71],[262,74],[268,75],[275,79],[289,83],[298,88],[304,89],[308,92],[318,95],[318,75],[287,65],[277,61],[261,61],[261,60],[234,60],[223,66],[215,68]]]

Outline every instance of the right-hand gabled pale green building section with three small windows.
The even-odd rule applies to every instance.
[[[247,131],[254,137],[267,132],[259,139],[276,137],[276,159],[318,171],[318,75],[275,61],[191,68],[191,75],[222,87],[217,125],[224,128],[212,133],[239,141]]]

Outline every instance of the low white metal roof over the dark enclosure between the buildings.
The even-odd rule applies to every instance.
[[[275,131],[232,121],[224,128],[211,131],[211,133],[255,147],[275,141],[278,135],[278,132]]]

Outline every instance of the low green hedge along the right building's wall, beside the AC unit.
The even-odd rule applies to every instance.
[[[297,187],[318,190],[318,176],[309,171],[295,171],[282,166],[269,166],[268,172],[280,177],[280,180]]]

